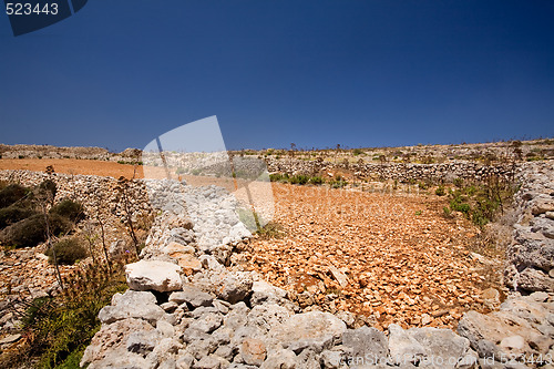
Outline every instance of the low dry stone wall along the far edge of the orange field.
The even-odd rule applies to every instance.
[[[321,175],[336,171],[346,171],[359,178],[410,181],[443,181],[451,183],[454,178],[481,181],[494,174],[501,177],[513,177],[521,170],[521,164],[482,165],[475,162],[453,161],[441,164],[412,163],[361,163],[343,164],[294,158],[267,160],[269,172],[291,174]]]

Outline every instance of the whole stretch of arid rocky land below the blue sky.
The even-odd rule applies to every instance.
[[[144,165],[135,150],[2,146],[0,189],[23,197],[0,218],[0,367],[336,369],[375,355],[488,368],[491,352],[552,355],[552,146],[240,151],[228,176],[203,153],[205,167],[175,152]],[[249,158],[270,183],[248,184]],[[239,197],[271,206],[248,218]],[[83,206],[71,224],[69,199]],[[18,225],[55,212],[65,233],[27,246]],[[59,277],[44,253],[64,242],[88,250]]]

